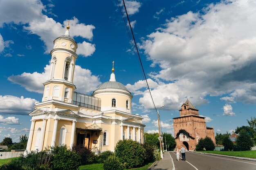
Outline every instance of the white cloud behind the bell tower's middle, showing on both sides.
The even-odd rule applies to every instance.
[[[20,75],[9,76],[8,80],[12,83],[16,83],[25,87],[29,92],[37,92],[43,94],[43,83],[48,80],[50,72],[50,66],[45,66],[43,73],[22,73]],[[90,82],[90,83],[88,83]],[[76,65],[74,71],[74,85],[76,85],[76,91],[81,93],[89,93],[94,91],[101,82],[98,76],[92,75],[92,72],[88,69],[81,68]]]

